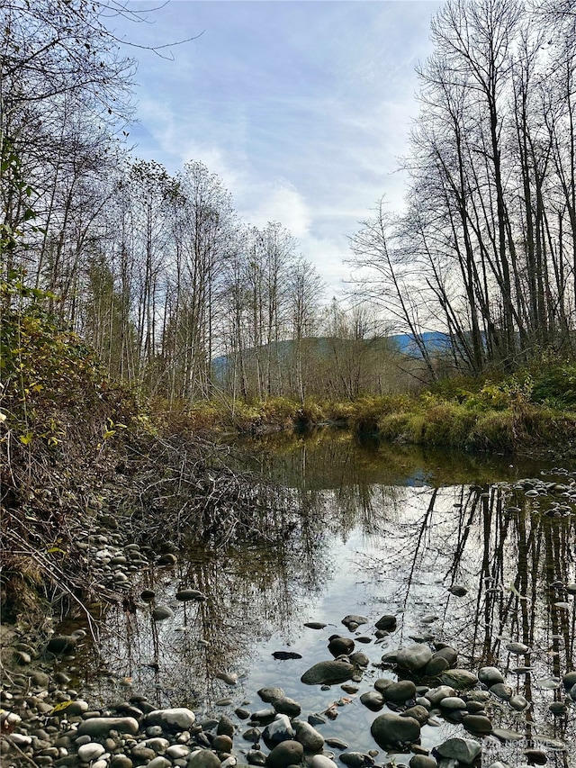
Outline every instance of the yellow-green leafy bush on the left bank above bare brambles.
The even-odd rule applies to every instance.
[[[11,299],[0,330],[4,427],[23,445],[40,439],[56,447],[70,427],[77,432],[83,423],[79,431],[92,429],[97,448],[106,420],[118,420],[117,411],[132,406],[122,404],[126,393],[112,386],[94,350],[45,310],[44,300],[53,296],[26,287],[17,273],[0,285],[0,292],[4,305]]]

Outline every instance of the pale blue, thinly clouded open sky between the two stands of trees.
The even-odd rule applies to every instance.
[[[401,209],[432,52],[433,0],[129,0],[112,19],[137,59],[132,154],[175,173],[199,160],[241,218],[280,221],[329,295],[347,291],[348,238],[385,195]],[[145,47],[194,38],[161,52]],[[143,47],[143,48],[142,48]]]

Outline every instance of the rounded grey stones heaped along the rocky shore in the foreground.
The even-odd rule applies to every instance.
[[[350,615],[342,623],[356,632],[368,619]],[[395,625],[396,617],[384,615],[375,622],[374,638],[389,636]],[[76,639],[52,637],[49,648],[59,655],[69,654]],[[231,717],[200,720],[191,709],[157,709],[137,694],[106,709],[92,709],[88,700],[68,687],[66,673],[43,672],[39,667],[8,673],[2,690],[3,765],[335,768],[344,763],[365,768],[394,764],[390,763],[393,756],[410,768],[456,768],[478,765],[482,754],[497,754],[500,747],[506,752],[508,745],[523,756],[524,762],[514,763],[522,766],[545,764],[551,755],[565,751],[563,740],[552,736],[529,744],[525,713],[532,702],[516,694],[495,666],[475,671],[461,667],[455,648],[443,643],[415,642],[384,654],[380,666],[392,676],[376,679],[361,692],[370,661],[356,650],[356,642],[363,644],[367,639],[373,638],[330,636],[332,657],[313,664],[302,675],[305,685],[323,690],[339,686],[341,698],[323,712],[303,712],[298,701],[275,686],[257,691],[260,701],[240,702]],[[530,650],[520,642],[510,642],[506,649],[518,658]],[[15,653],[22,653],[18,646]],[[550,713],[573,721],[576,672],[551,678],[546,687],[557,691]],[[366,753],[322,733],[338,716],[338,708],[356,697],[365,708],[382,712],[371,726],[374,749]],[[517,717],[518,729],[495,724],[494,717],[501,719],[502,709]],[[422,745],[423,729],[438,727],[442,721],[458,727],[458,733],[431,749]],[[507,763],[496,759],[482,764],[503,768]]]

